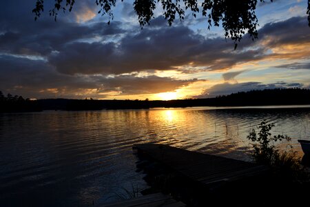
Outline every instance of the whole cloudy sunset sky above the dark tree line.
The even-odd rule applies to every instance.
[[[258,39],[234,50],[223,28],[187,14],[172,26],[156,9],[141,27],[132,1],[118,1],[114,19],[95,0],[72,12],[48,10],[34,21],[35,0],[2,1],[0,90],[33,99],[188,99],[266,88],[310,88],[307,0],[258,3]],[[200,1],[199,1],[200,2]]]

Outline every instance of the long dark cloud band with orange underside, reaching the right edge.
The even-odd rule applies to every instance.
[[[310,38],[307,21],[300,17],[267,24],[259,31],[260,40],[253,43],[245,39],[238,50],[234,50],[231,43],[222,38],[206,39],[181,25],[162,26],[164,20],[159,17],[154,22],[154,26],[141,32],[125,34],[121,41],[113,43],[114,46],[96,42],[85,43],[85,46],[79,48],[81,45],[74,46],[79,43],[66,44],[51,61],[59,72],[66,74],[121,74],[143,70],[172,70],[182,66],[227,70],[249,61],[286,58],[286,55],[268,53],[268,50],[283,45],[307,43]],[[292,32],[287,32],[291,27],[294,28]],[[107,54],[106,51],[110,53]],[[101,59],[94,59],[94,54],[98,53],[104,55]],[[302,56],[300,58],[307,56],[306,53],[298,54]],[[84,59],[85,66],[76,66],[74,59]]]

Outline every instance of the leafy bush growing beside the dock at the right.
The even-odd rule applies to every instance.
[[[270,131],[273,126],[274,124],[269,124],[268,121],[262,121],[258,126],[260,130],[258,134],[252,129],[247,135],[247,139],[258,143],[253,145],[254,152],[252,152],[256,163],[271,166],[277,176],[291,181],[306,179],[306,173],[300,165],[300,158],[296,156],[296,152],[280,151],[274,145],[276,141],[290,141],[291,138],[287,135],[272,136]]]

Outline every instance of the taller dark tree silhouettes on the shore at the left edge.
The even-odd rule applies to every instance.
[[[18,95],[10,93],[5,97],[0,91],[0,112],[37,112],[41,106],[36,100],[23,99]]]

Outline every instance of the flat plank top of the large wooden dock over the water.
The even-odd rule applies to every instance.
[[[150,157],[164,166],[203,184],[236,181],[261,175],[265,166],[215,155],[207,155],[161,144],[135,145],[140,156]]]

